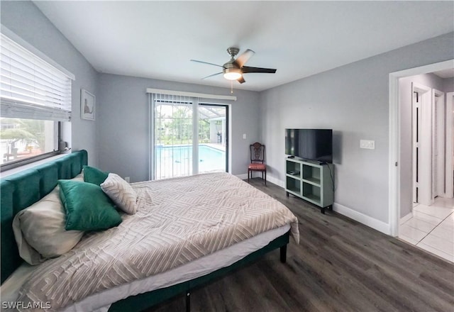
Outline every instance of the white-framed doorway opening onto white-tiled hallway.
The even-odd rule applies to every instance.
[[[426,221],[433,221],[429,220],[430,218],[440,218],[440,223],[443,223],[445,228],[437,227],[436,225],[431,226],[427,223],[430,222],[420,222],[420,221],[410,221],[409,218],[412,217],[409,214],[409,218],[404,222],[407,222],[406,225],[411,225],[416,227],[416,223],[421,225],[427,225],[424,229],[426,233],[422,234],[422,237],[418,240],[413,242],[414,245],[421,243],[423,238],[426,238],[426,246],[423,244],[417,245],[429,252],[438,255],[440,257],[444,257],[450,261],[454,261],[454,251],[452,249],[453,243],[450,240],[453,240],[453,211],[454,211],[454,202],[453,199],[446,199],[445,197],[452,197],[453,191],[450,188],[453,186],[453,172],[452,172],[452,162],[453,162],[453,139],[452,139],[452,125],[453,125],[453,110],[452,108],[448,108],[448,101],[444,101],[443,92],[438,91],[436,87],[430,86],[431,88],[424,88],[424,86],[420,86],[418,84],[414,84],[412,89],[408,89],[407,91],[402,91],[399,86],[399,79],[404,79],[406,77],[411,77],[420,74],[428,74],[431,72],[438,72],[441,69],[451,69],[453,71],[454,62],[453,60],[437,63],[434,65],[427,65],[424,67],[418,67],[415,69],[406,69],[402,72],[394,72],[389,75],[389,90],[390,90],[390,98],[389,98],[389,160],[390,160],[390,167],[389,167],[389,225],[390,225],[390,234],[393,236],[399,235],[399,221],[402,221],[402,209],[404,207],[404,203],[409,204],[411,206],[413,216],[424,216]],[[429,89],[429,90],[427,90]],[[443,91],[448,91],[446,88]],[[416,92],[416,93],[415,93]],[[426,131],[423,133],[416,132],[413,133],[413,137],[419,136],[419,140],[423,139],[423,136],[426,135],[426,155],[421,155],[422,150],[419,151],[421,148],[421,142],[414,140],[410,137],[405,137],[402,134],[402,127],[407,129],[411,129],[411,127],[415,127],[414,123],[419,122],[419,127],[423,127],[422,120],[424,116],[421,115],[416,118],[412,114],[413,121],[409,121],[409,123],[402,123],[402,116],[405,115],[404,108],[402,108],[402,93],[408,94],[409,98],[413,96],[414,102],[420,102],[423,96],[426,96],[426,100],[428,102],[433,101],[434,103],[441,104],[443,106],[432,106],[432,109],[426,111],[426,117],[429,116],[426,120]],[[447,96],[447,95],[446,95]],[[417,98],[417,99],[416,99]],[[447,96],[448,99],[448,96]],[[452,101],[452,100],[451,100]],[[445,106],[444,106],[445,104]],[[419,109],[422,109],[421,103],[419,103]],[[414,107],[413,107],[414,109]],[[438,111],[437,111],[438,110]],[[445,116],[440,115],[440,111],[445,113]],[[447,112],[447,113],[446,113]],[[421,111],[419,111],[421,113]],[[436,119],[438,121],[435,123]],[[428,126],[429,125],[429,126]],[[450,128],[450,132],[445,133],[445,128]],[[427,131],[428,130],[428,131]],[[411,131],[410,131],[411,132]],[[444,135],[446,135],[444,137]],[[427,140],[430,138],[431,140]],[[409,143],[410,142],[410,143]],[[407,148],[411,150],[411,154],[409,157],[401,157],[402,148]],[[430,152],[428,152],[430,151]],[[415,162],[411,162],[411,157],[418,158]],[[418,169],[416,166],[418,161],[421,162],[421,157],[426,157],[426,169]],[[406,161],[409,160],[409,161]],[[428,160],[428,161],[427,161]],[[409,164],[405,163],[409,162]],[[443,169],[443,172],[441,170]],[[421,172],[421,170],[426,170],[425,173]],[[410,173],[410,174],[409,174]],[[426,183],[426,198],[428,198],[428,205],[424,206],[421,205],[421,174],[425,174],[425,183]],[[412,180],[413,179],[413,180]],[[413,181],[418,183],[414,185]],[[415,187],[417,186],[417,187]],[[408,191],[402,192],[403,189],[407,187]],[[417,192],[417,193],[416,193]],[[415,200],[416,198],[416,200]],[[417,204],[414,208],[413,204]],[[431,205],[431,206],[430,206]],[[429,210],[427,207],[430,207],[431,211],[435,211],[433,216],[428,216]],[[433,208],[436,207],[436,208]],[[413,209],[414,208],[414,209]],[[413,222],[413,223],[412,223]],[[412,223],[412,224],[411,224]],[[437,225],[439,225],[438,223]],[[431,228],[428,228],[431,226]],[[443,236],[444,235],[444,236]],[[428,246],[428,241],[432,238],[443,236],[444,238],[440,240],[438,243],[439,245],[431,245]],[[448,249],[445,250],[446,252],[440,252],[443,250],[444,247]]]

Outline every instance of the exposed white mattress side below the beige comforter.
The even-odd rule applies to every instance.
[[[284,233],[287,233],[289,230],[290,225],[284,225],[282,227],[269,230],[265,233],[256,235],[253,238],[236,243],[226,249],[218,250],[211,255],[206,255],[187,264],[183,264],[180,267],[170,269],[167,272],[155,274],[145,279],[140,279],[92,294],[91,296],[87,296],[82,301],[74,303],[71,306],[67,306],[62,311],[108,311],[111,303],[125,299],[128,296],[134,296],[147,291],[153,291],[155,289],[187,282],[191,279],[214,272],[222,267],[228,267],[229,265],[243,259],[243,257],[249,255],[250,253],[265,247],[272,240],[284,235]],[[16,272],[14,272],[0,287],[2,303],[5,301],[16,301],[21,285],[35,269],[36,267],[26,263],[16,269]],[[8,309],[5,311],[8,311]]]

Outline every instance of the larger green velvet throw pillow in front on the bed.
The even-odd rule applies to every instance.
[[[121,216],[100,186],[71,180],[59,180],[58,184],[66,230],[106,230],[121,223]]]

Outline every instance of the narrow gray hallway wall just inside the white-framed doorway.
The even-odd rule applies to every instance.
[[[426,87],[437,89],[444,92],[454,90],[454,86],[446,81],[453,79],[443,79],[435,74],[420,74],[399,79],[400,97],[400,217],[411,213],[413,208],[413,182],[412,182],[412,152],[411,152],[411,83],[416,82]]]

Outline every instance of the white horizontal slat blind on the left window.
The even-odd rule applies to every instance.
[[[70,121],[71,77],[3,33],[0,59],[2,117]]]

